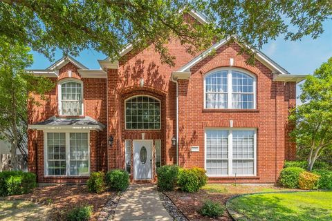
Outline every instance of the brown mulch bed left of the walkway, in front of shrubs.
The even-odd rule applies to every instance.
[[[11,200],[30,200],[52,206],[50,220],[65,220],[66,213],[76,206],[93,205],[91,220],[98,220],[98,215],[116,192],[89,193],[86,185],[56,185],[38,187],[32,193],[11,196]]]

